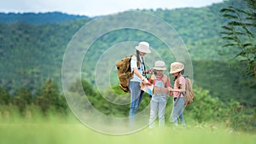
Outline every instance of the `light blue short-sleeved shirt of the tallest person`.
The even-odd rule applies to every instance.
[[[138,72],[143,74],[143,71],[144,71],[143,58],[142,58],[141,55],[139,55],[139,58],[140,58],[140,68],[137,67],[137,56],[136,55],[132,55],[132,57],[131,57],[131,72],[133,71],[134,67],[137,67]],[[139,78],[137,76],[137,74],[133,73],[133,78],[131,78],[131,81],[133,81],[133,82],[142,82],[142,79]]]

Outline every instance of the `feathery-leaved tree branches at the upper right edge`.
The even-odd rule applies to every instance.
[[[224,47],[238,49],[238,54],[233,57],[235,60],[245,62],[247,74],[256,78],[256,2],[255,0],[244,0],[247,2],[247,9],[237,9],[233,6],[221,9],[224,19],[228,22],[222,26],[221,32],[227,44]]]

